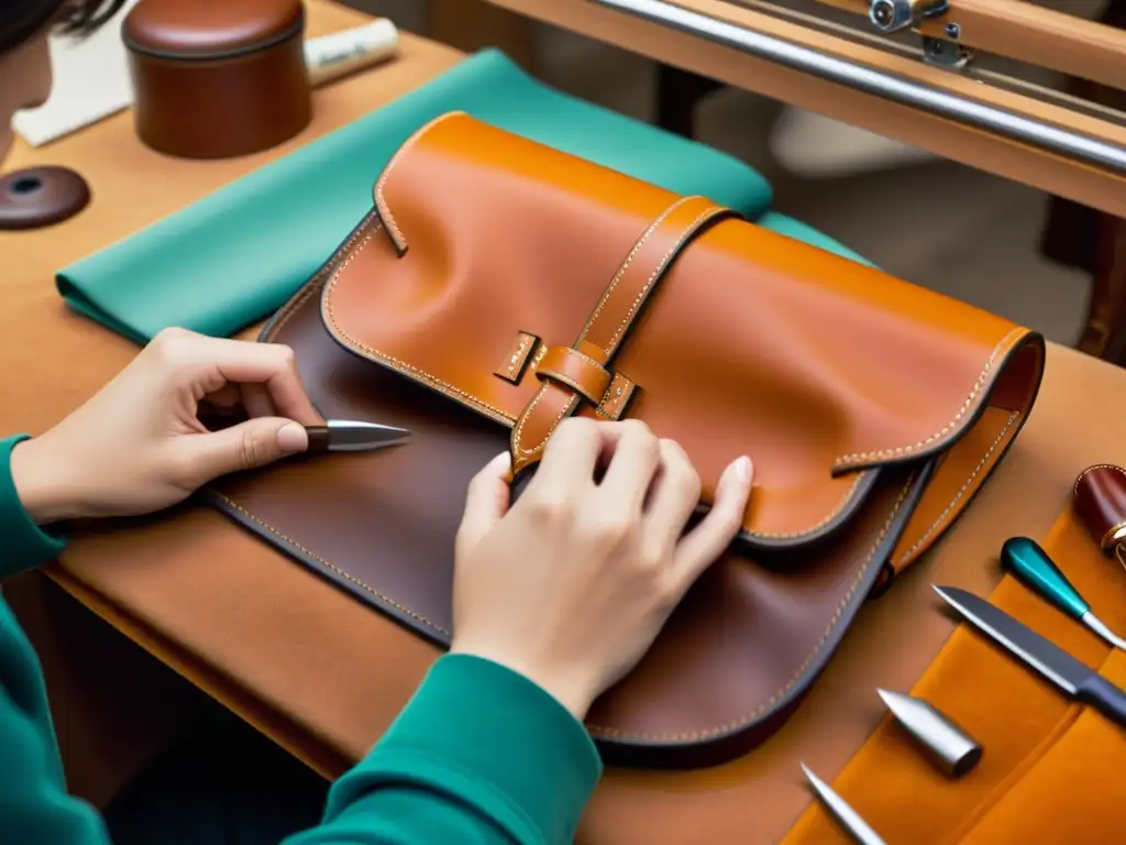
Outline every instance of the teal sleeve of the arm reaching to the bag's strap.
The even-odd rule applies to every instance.
[[[586,729],[537,685],[446,655],[387,733],[287,845],[571,843],[601,775]]]

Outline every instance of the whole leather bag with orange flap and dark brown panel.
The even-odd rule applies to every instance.
[[[642,419],[685,447],[701,508],[753,459],[730,554],[588,717],[608,760],[647,766],[780,726],[1001,460],[1044,366],[999,317],[461,113],[399,150],[261,339],[294,348],[324,416],[414,436],[212,500],[438,646],[465,488],[501,450],[519,491],[568,416]]]

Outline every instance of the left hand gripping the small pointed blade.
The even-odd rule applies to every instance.
[[[200,402],[241,407],[249,419],[208,432]],[[12,477],[39,524],[143,514],[218,475],[304,452],[302,425],[321,421],[288,348],[169,329],[93,399],[16,446]]]

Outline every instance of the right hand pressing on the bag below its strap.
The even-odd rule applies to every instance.
[[[726,469],[712,510],[687,534],[699,477],[642,422],[566,420],[511,509],[508,470],[500,455],[470,487],[452,650],[519,671],[581,720],[738,533],[751,462]]]

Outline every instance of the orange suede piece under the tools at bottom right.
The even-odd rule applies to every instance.
[[[1101,554],[1070,508],[1042,545],[1094,614],[1126,632],[1126,572]],[[1011,576],[990,601],[1126,688],[1126,653],[1111,653]],[[936,596],[935,613],[942,612]],[[964,727],[984,754],[968,775],[949,779],[885,718],[833,788],[888,845],[1085,845],[1126,836],[1126,730],[1071,703],[965,624],[910,692]],[[851,839],[814,801],[783,842]]]

